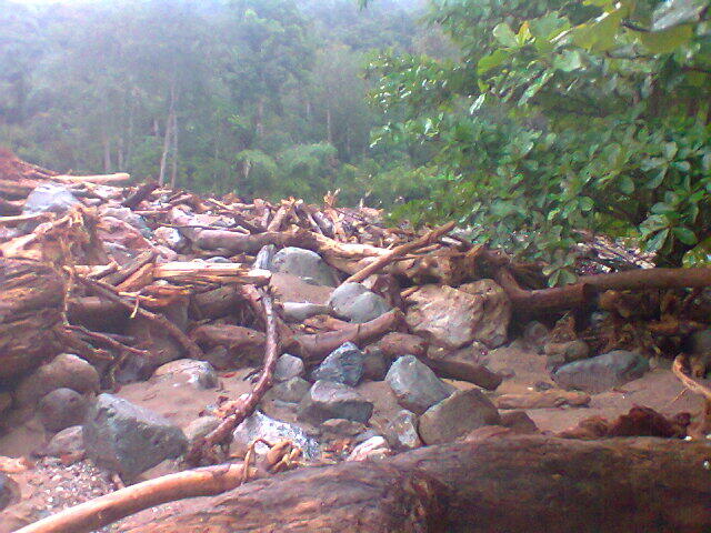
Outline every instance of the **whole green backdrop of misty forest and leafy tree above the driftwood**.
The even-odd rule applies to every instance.
[[[0,140],[198,191],[340,189],[553,284],[585,232],[708,262],[708,0],[360,3],[0,0]]]

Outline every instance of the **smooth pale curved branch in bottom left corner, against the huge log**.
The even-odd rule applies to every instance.
[[[88,533],[161,503],[210,496],[239,486],[241,464],[221,464],[144,481],[60,511],[17,533]]]

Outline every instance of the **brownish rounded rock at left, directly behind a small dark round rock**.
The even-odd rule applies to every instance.
[[[57,389],[71,389],[82,394],[99,392],[99,373],[83,359],[60,353],[22,380],[14,399],[20,406],[31,405]]]

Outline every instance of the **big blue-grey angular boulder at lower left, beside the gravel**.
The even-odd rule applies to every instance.
[[[133,480],[166,459],[177,457],[188,441],[163,416],[112,394],[100,394],[83,425],[87,455]]]

